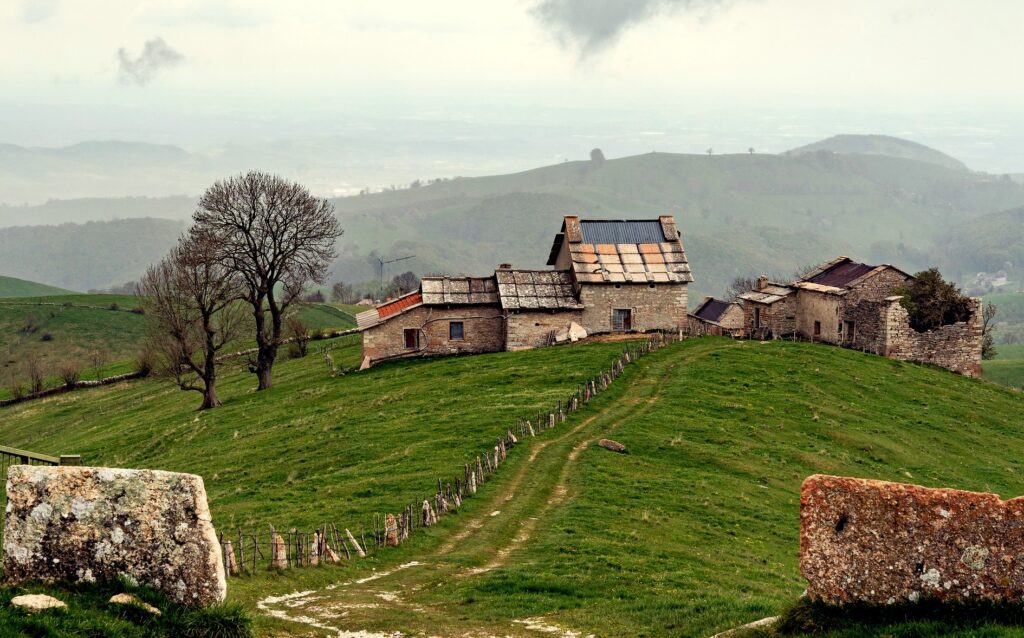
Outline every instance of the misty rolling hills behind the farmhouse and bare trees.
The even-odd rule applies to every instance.
[[[683,231],[696,299],[721,293],[737,274],[788,275],[840,253],[908,270],[941,264],[966,271],[969,257],[948,250],[947,230],[1024,206],[1024,185],[878,154],[655,153],[445,179],[334,204],[345,229],[334,273],[350,283],[375,281],[380,255],[415,255],[401,269],[420,274],[482,273],[506,261],[544,267],[563,215],[671,213]],[[146,202],[131,206],[140,210]],[[56,204],[46,212],[58,209],[70,214]],[[153,209],[186,210],[179,200],[154,201]],[[104,288],[137,277],[181,228],[168,220],[106,223],[0,229],[0,270],[54,286]]]

